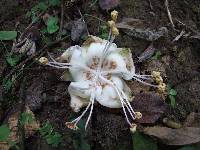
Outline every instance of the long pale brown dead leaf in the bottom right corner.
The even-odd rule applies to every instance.
[[[167,145],[187,145],[200,141],[200,128],[185,127],[171,129],[167,127],[147,127],[144,134],[155,136]]]

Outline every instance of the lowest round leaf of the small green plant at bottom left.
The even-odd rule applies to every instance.
[[[62,136],[58,132],[46,136],[47,143],[57,147],[62,141]]]

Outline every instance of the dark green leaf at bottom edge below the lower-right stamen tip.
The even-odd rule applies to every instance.
[[[148,136],[136,131],[132,135],[133,150],[157,150],[157,144]]]

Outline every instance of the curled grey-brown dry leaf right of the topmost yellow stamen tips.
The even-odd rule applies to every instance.
[[[166,27],[151,29],[148,23],[134,18],[124,18],[122,22],[117,24],[117,27],[122,29],[122,31],[129,36],[145,39],[147,41],[155,41],[168,34]]]

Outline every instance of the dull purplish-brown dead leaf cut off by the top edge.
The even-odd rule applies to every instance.
[[[119,0],[99,0],[99,6],[103,10],[110,10],[119,5]]]

